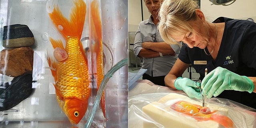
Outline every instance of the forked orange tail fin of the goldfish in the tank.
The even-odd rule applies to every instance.
[[[72,13],[70,13],[70,20],[62,15],[58,6],[49,13],[49,16],[64,38],[77,36],[80,39],[84,26],[86,4],[83,0],[74,0],[74,5],[71,10]]]

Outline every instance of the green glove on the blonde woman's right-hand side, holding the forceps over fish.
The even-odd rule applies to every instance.
[[[246,76],[240,76],[227,70],[217,67],[207,74],[201,82],[202,94],[207,98],[218,96],[224,90],[248,91],[252,93],[254,89],[253,82]]]

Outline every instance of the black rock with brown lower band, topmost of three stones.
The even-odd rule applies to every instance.
[[[34,35],[27,25],[4,26],[3,46],[5,48],[29,47],[34,43]]]

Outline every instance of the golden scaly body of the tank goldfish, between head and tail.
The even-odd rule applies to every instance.
[[[78,38],[70,37],[67,41],[66,51],[69,57],[64,62],[58,63],[59,82],[56,83],[56,87],[60,90],[63,98],[75,96],[84,99],[90,94],[85,90],[88,90],[89,87],[86,62],[84,56],[77,52],[80,51]]]

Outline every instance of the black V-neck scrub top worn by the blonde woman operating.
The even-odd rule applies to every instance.
[[[214,21],[214,23],[218,22],[225,22],[225,28],[215,61],[211,56],[206,55],[203,49],[189,48],[184,45],[178,58],[186,64],[192,64],[196,72],[200,74],[200,80],[204,78],[205,68],[209,73],[218,66],[241,76],[256,77],[256,23],[225,17]],[[206,52],[209,54],[207,48]],[[217,97],[233,100],[256,109],[256,93],[254,92],[224,90]]]

